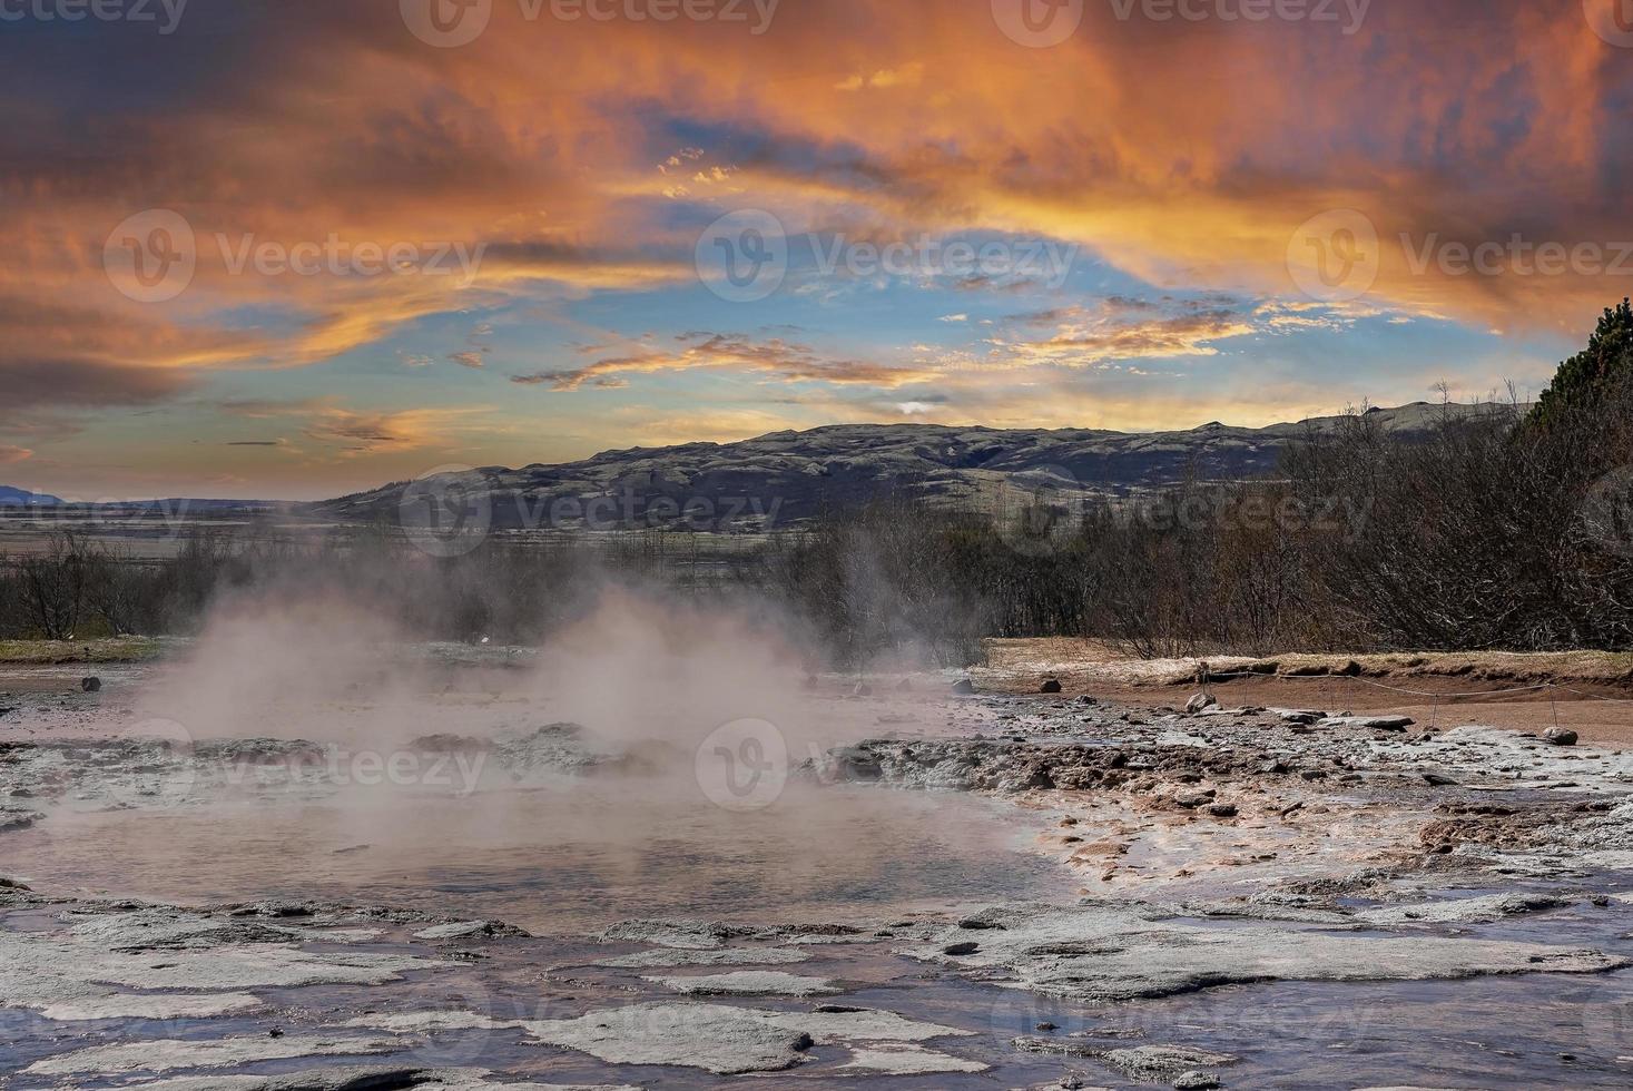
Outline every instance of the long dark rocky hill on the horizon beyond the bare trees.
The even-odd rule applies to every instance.
[[[1468,412],[1450,407],[1452,412]],[[1368,410],[1386,433],[1427,434],[1447,407]],[[962,508],[1004,495],[1115,498],[1195,477],[1243,480],[1275,469],[1282,451],[1346,418],[1267,428],[1210,423],[1187,431],[994,430],[939,425],[834,425],[740,443],[606,451],[580,462],[488,467],[429,482],[397,482],[312,505],[340,521],[421,519],[426,497],[461,508],[477,498],[495,528],[679,526],[758,529],[900,493]],[[591,505],[594,505],[591,511]],[[689,518],[683,511],[691,511]]]

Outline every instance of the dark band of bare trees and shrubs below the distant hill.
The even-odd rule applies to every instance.
[[[537,642],[607,581],[776,611],[813,658],[965,665],[986,637],[1140,657],[1633,648],[1633,309],[1535,405],[1445,403],[1427,436],[1350,413],[1275,474],[1137,498],[905,497],[741,541],[658,531],[429,557],[390,528],[201,534],[136,560],[72,529],[0,559],[0,635],[196,630],[224,594],[346,594],[425,639]]]

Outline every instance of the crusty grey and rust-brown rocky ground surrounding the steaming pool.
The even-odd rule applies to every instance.
[[[15,701],[34,701],[34,730],[0,741],[0,866],[7,836],[64,807],[253,799],[327,746],[54,741],[39,725],[57,697]],[[178,906],[16,875],[0,884],[5,1086],[1633,1081],[1633,756],[1349,709],[834,702],[877,702],[880,737],[797,779],[999,799],[1061,866],[1058,895],[529,936],[457,897]],[[483,792],[650,761],[572,725],[408,745],[488,755]]]

